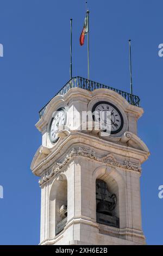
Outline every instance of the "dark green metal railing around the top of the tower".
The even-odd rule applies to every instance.
[[[70,90],[71,88],[82,88],[82,89],[85,89],[85,90],[89,90],[90,92],[92,92],[93,90],[96,90],[96,89],[101,89],[101,88],[113,90],[114,92],[116,92],[116,93],[120,94],[122,97],[124,97],[124,99],[126,99],[131,105],[140,107],[140,98],[139,98],[139,96],[136,96],[136,95],[133,95],[133,94],[130,94],[130,93],[126,93],[126,92],[123,92],[122,90],[115,89],[115,88],[112,88],[110,86],[105,86],[102,83],[87,80],[86,78],[79,77],[79,76],[73,77],[70,81],[68,81],[65,84],[65,86],[63,86],[60,89],[60,91],[57,94],[54,95],[54,97],[57,96],[57,95],[65,95],[68,92],[68,90]],[[44,114],[44,112],[45,112],[45,110],[48,106],[48,103],[43,108],[41,108],[41,110],[39,111],[40,119],[43,117],[43,114]]]

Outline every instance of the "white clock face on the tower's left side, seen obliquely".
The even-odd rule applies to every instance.
[[[51,142],[57,142],[58,137],[58,129],[59,126],[65,125],[66,123],[66,111],[65,108],[59,108],[54,117],[51,120],[51,124],[49,126],[49,138]]]

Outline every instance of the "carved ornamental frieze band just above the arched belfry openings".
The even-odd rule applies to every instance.
[[[89,159],[96,160],[98,162],[102,162],[105,164],[109,164],[111,166],[116,166],[128,170],[134,170],[134,172],[141,173],[141,167],[140,164],[137,164],[135,162],[127,161],[127,160],[118,160],[116,157],[112,154],[108,154],[103,157],[96,156],[95,151],[91,149],[86,148],[73,148],[70,153],[68,153],[65,157],[65,159],[61,162],[55,162],[52,169],[48,170],[45,174],[43,174],[39,180],[39,185],[42,186],[45,182],[50,180],[54,175],[60,173],[60,170],[68,163],[74,156],[83,156],[87,157]]]

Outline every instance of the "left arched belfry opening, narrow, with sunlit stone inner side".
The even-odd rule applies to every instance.
[[[60,175],[54,180],[49,197],[49,236],[58,235],[67,222],[67,179]]]

